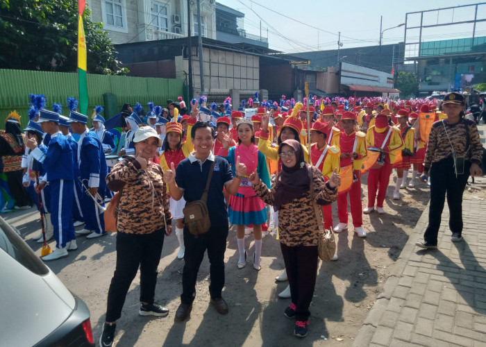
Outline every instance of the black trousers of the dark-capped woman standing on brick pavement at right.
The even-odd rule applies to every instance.
[[[430,167],[430,209],[428,226],[424,240],[428,244],[437,244],[442,210],[447,197],[449,205],[449,228],[452,232],[462,233],[462,193],[469,178],[471,162],[464,162],[464,174],[455,176],[453,158],[434,162]]]

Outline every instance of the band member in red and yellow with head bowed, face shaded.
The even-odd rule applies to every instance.
[[[367,120],[364,119],[364,121]],[[387,115],[380,113],[376,116],[375,124],[367,131],[366,143],[368,149],[374,147],[380,150],[380,158],[376,160],[375,164],[378,168],[371,167],[369,169],[368,207],[363,210],[363,213],[369,214],[374,211],[376,201],[378,214],[384,214],[383,202],[387,194],[389,176],[392,173],[392,164],[395,160],[393,152],[399,151],[403,147],[400,130],[389,126]]]

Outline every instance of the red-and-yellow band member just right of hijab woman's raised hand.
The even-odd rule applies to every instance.
[[[344,171],[346,167],[352,165],[353,183],[349,189],[337,192],[337,217],[340,223],[334,228],[335,232],[341,232],[348,228],[348,193],[349,205],[351,205],[351,217],[353,217],[354,232],[359,237],[366,237],[366,232],[362,228],[362,206],[361,206],[361,163],[366,155],[366,134],[361,131],[356,132],[355,112],[344,112],[341,118],[343,131],[340,137],[340,167]]]

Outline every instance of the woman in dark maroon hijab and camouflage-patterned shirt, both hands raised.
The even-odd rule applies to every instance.
[[[341,178],[335,169],[328,182],[324,182],[321,171],[304,161],[302,146],[294,139],[287,139],[280,144],[278,156],[282,161],[282,171],[271,189],[255,172],[250,175],[249,181],[255,193],[279,211],[280,249],[292,296],[292,303],[284,314],[288,318],[296,318],[294,335],[305,337],[317,276],[319,235],[319,225],[311,201],[309,169],[312,172],[315,201],[336,201]]]

